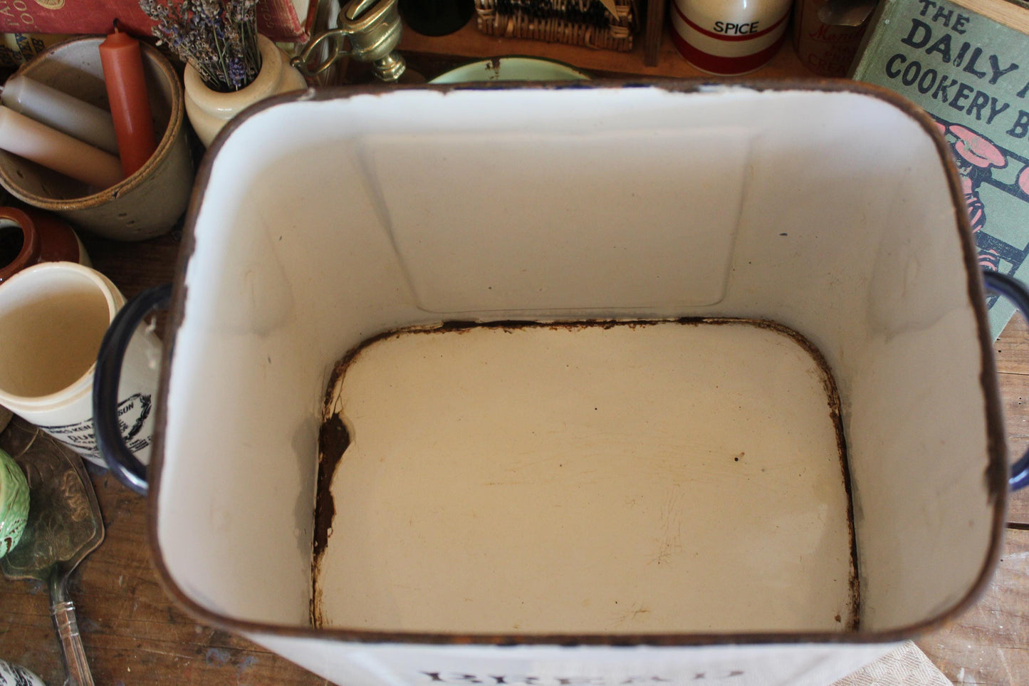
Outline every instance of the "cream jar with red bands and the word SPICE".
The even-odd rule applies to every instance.
[[[772,59],[786,36],[791,0],[672,0],[672,38],[712,74],[743,74]]]

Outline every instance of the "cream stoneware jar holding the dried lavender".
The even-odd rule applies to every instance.
[[[212,91],[204,83],[200,73],[191,65],[186,65],[183,75],[186,115],[205,147],[211,144],[215,135],[230,118],[247,106],[280,93],[308,87],[300,72],[289,66],[286,54],[271,39],[258,35],[257,47],[260,49],[261,60],[257,78],[233,93]]]

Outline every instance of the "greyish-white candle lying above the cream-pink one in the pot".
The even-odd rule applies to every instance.
[[[118,140],[114,135],[111,113],[67,93],[28,76],[15,75],[4,83],[0,102],[51,129],[112,155],[118,153]]]

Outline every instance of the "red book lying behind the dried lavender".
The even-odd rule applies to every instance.
[[[318,0],[257,0],[257,31],[280,42],[306,42]],[[139,0],[0,0],[3,33],[110,33],[122,30],[149,37],[153,22]]]

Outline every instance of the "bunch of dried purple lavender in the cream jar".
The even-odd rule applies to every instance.
[[[249,85],[260,71],[257,0],[140,0],[153,35],[188,62],[212,91]]]

